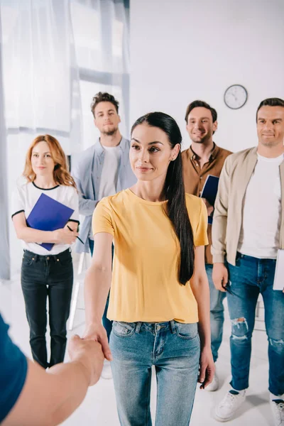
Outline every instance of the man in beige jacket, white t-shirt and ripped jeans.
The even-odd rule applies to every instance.
[[[251,336],[261,293],[271,410],[274,424],[283,426],[284,293],[273,290],[273,280],[278,250],[284,249],[284,100],[261,102],[256,122],[258,146],[226,158],[215,202],[212,278],[227,295],[232,375],[231,390],[217,406],[215,417],[230,420],[246,398]]]

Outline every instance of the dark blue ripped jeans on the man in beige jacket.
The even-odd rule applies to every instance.
[[[273,259],[237,253],[236,266],[228,264],[230,288],[226,296],[231,318],[231,386],[237,391],[249,387],[251,336],[256,302],[261,293],[268,336],[269,391],[274,395],[284,393],[284,293],[273,290],[275,263]]]

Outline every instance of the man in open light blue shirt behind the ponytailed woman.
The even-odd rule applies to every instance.
[[[111,94],[99,92],[92,100],[91,110],[100,137],[77,159],[72,175],[79,192],[79,211],[85,216],[80,230],[84,245],[77,241],[77,252],[91,251],[92,254],[94,208],[103,197],[131,187],[136,178],[129,163],[130,142],[119,131],[119,102]],[[109,339],[112,322],[107,319],[108,305],[109,298],[102,318]],[[111,378],[109,361],[105,361],[102,377]]]

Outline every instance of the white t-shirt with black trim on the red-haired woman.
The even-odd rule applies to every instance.
[[[53,198],[53,200],[61,202],[65,206],[70,207],[70,209],[73,209],[74,212],[70,217],[70,221],[78,222],[79,224],[79,197],[77,190],[75,190],[75,187],[66,185],[57,185],[48,190],[37,187],[33,182],[17,185],[12,195],[12,217],[15,214],[24,212],[27,218],[38,198],[43,193]],[[22,243],[24,249],[43,256],[62,253],[62,251],[70,247],[70,244],[54,244],[53,248],[48,251],[37,243],[26,243],[26,241],[22,241]]]

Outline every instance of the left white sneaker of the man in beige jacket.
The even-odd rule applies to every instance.
[[[246,391],[234,391],[231,389],[226,393],[224,399],[219,403],[215,409],[215,419],[219,422],[227,422],[231,420],[231,417],[234,417],[236,410],[241,407],[241,404],[244,403],[246,399]]]

